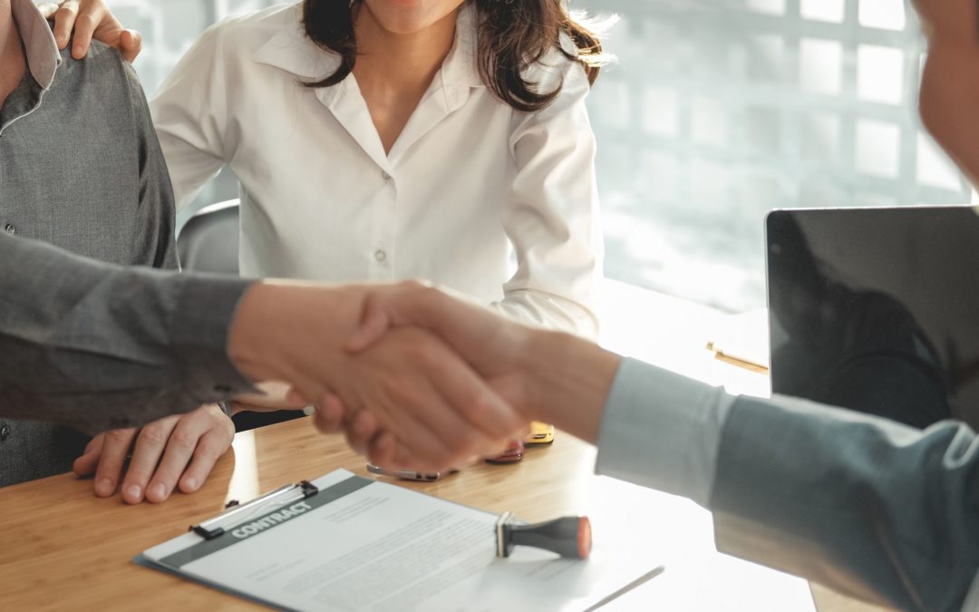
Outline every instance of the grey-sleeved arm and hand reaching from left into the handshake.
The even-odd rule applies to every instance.
[[[431,335],[404,330],[345,353],[367,293],[123,268],[0,235],[0,414],[98,431],[282,381],[325,412],[339,409],[328,393],[369,407],[416,441],[408,450],[425,469],[498,452],[525,432]]]

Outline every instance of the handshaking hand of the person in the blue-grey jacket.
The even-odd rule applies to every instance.
[[[363,351],[397,326],[421,327],[441,337],[523,418],[555,423],[588,442],[597,440],[621,361],[618,355],[568,334],[521,325],[414,282],[370,288],[360,328],[347,349]],[[348,416],[341,425],[336,414],[334,410],[320,426],[343,427],[350,445],[366,447],[374,463],[413,465],[400,432],[370,415]]]

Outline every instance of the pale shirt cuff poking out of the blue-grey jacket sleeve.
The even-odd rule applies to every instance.
[[[623,359],[602,416],[595,472],[706,506],[733,400],[723,389]]]

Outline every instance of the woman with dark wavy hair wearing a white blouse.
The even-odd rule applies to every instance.
[[[243,274],[425,278],[592,335],[597,51],[561,0],[305,0],[211,27],[151,107],[178,208],[238,177]]]

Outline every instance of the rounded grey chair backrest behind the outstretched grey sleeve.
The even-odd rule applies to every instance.
[[[177,239],[183,269],[238,274],[238,204],[212,204],[187,221]]]

